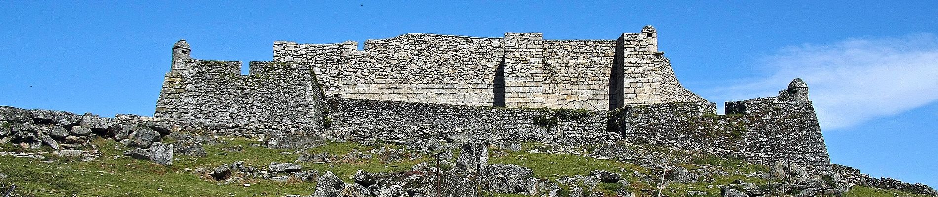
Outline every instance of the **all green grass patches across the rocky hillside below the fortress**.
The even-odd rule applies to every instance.
[[[124,147],[119,143],[98,139],[94,144],[101,151],[101,156],[91,162],[82,162],[80,158],[59,158],[53,153],[43,154],[53,159],[47,162],[31,158],[17,158],[11,155],[0,156],[0,173],[8,177],[0,179],[0,183],[8,186],[16,184],[22,195],[35,196],[70,196],[78,193],[95,194],[103,196],[282,196],[286,194],[309,195],[315,188],[315,183],[302,182],[291,179],[287,182],[276,182],[259,178],[249,178],[237,183],[224,183],[216,181],[204,174],[195,174],[200,168],[210,170],[221,164],[244,161],[248,166],[266,168],[269,162],[294,162],[299,156],[295,149],[275,149],[253,147],[259,144],[257,140],[243,137],[220,137],[222,145],[205,146],[208,153],[205,157],[192,157],[176,155],[178,160],[173,166],[162,166],[147,160],[135,160],[120,156]],[[240,147],[242,151],[228,151],[222,148]],[[329,152],[334,155],[358,149],[367,151],[372,148],[401,148],[397,145],[378,144],[364,146],[357,143],[330,143],[318,148],[309,148],[310,153]],[[529,146],[528,146],[529,147]],[[0,145],[0,152],[38,152],[50,149],[23,149],[12,145]],[[404,151],[405,154],[410,152]],[[454,155],[458,155],[454,153]],[[638,196],[653,196],[656,192],[657,179],[654,169],[645,169],[640,165],[629,162],[601,160],[573,154],[531,153],[525,151],[493,150],[490,152],[490,163],[509,163],[531,168],[535,176],[545,179],[556,179],[563,176],[584,176],[593,170],[606,170],[622,174],[631,183],[622,186],[618,183],[600,183],[594,191],[602,191],[608,196],[614,195],[614,190],[629,187]],[[331,171],[346,182],[352,180],[357,170],[367,172],[401,172],[409,171],[411,166],[419,162],[427,162],[430,157],[420,155],[415,160],[404,158],[400,162],[379,162],[377,157],[370,160],[354,162],[297,162],[304,170],[314,169],[321,172]],[[736,179],[752,183],[764,183],[758,177],[746,176],[746,173],[761,171],[764,166],[751,165],[746,162],[724,160],[719,158],[704,158],[695,160],[696,163],[681,163],[690,170],[701,167],[723,169],[726,172],[742,172],[728,176],[714,176],[714,182],[700,182],[692,184],[669,184],[663,190],[667,196],[685,196],[688,190],[702,190],[709,194],[703,196],[718,196],[719,185],[729,184]],[[634,176],[635,173],[647,175]],[[659,176],[658,176],[659,177]],[[246,187],[245,184],[250,184]],[[568,195],[569,188],[563,188],[561,196]],[[588,195],[587,190],[584,193]],[[520,194],[487,193],[492,196],[523,196]],[[893,190],[874,190],[858,187],[846,193],[845,196],[911,196],[926,197],[921,194],[909,194]]]

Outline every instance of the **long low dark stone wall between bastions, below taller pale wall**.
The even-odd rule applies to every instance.
[[[621,139],[606,132],[606,112],[452,106],[334,98],[327,135],[347,140],[477,138],[492,144],[534,141],[582,146]]]

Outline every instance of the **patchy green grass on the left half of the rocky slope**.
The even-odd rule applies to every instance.
[[[266,169],[269,162],[294,162],[299,156],[293,154],[294,149],[274,149],[263,147],[250,147],[250,144],[260,143],[239,137],[223,137],[228,144],[219,146],[204,146],[208,156],[191,157],[176,155],[179,160],[173,166],[162,166],[146,160],[135,160],[129,157],[112,159],[121,155],[128,148],[110,140],[99,139],[95,141],[102,156],[92,162],[68,162],[69,158],[60,158],[59,162],[40,162],[34,159],[0,156],[0,173],[9,177],[0,180],[6,184],[16,184],[23,188],[35,190],[52,190],[59,192],[78,192],[106,196],[221,196],[229,192],[236,196],[281,196],[285,194],[309,195],[315,188],[315,183],[288,181],[280,183],[263,179],[249,178],[240,183],[223,184],[203,175],[191,174],[186,169],[213,169],[221,164],[245,161],[246,165]],[[114,147],[118,149],[115,149]],[[229,152],[221,150],[223,147],[243,146],[242,152]],[[391,147],[391,146],[386,146]],[[0,151],[17,149],[11,145],[0,145]],[[367,151],[371,147],[357,143],[330,143],[328,145],[310,148],[310,153],[323,151],[332,154],[344,155],[350,150],[358,148]],[[23,149],[18,149],[23,150]],[[30,150],[24,150],[30,151]],[[280,152],[289,151],[291,154],[281,155]],[[220,154],[224,153],[224,154]],[[54,157],[53,154],[46,154]],[[72,160],[77,161],[77,158]],[[401,162],[381,163],[377,159],[356,163],[312,163],[297,162],[304,170],[315,169],[321,172],[332,171],[345,181],[351,181],[357,170],[368,172],[396,172],[410,170],[411,166],[423,159]],[[387,166],[387,167],[386,167]],[[250,183],[250,187],[242,184]],[[158,190],[163,189],[163,190]],[[62,193],[34,192],[20,190],[36,196],[63,196]],[[129,194],[128,194],[129,193]]]

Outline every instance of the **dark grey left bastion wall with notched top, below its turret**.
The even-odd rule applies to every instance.
[[[185,59],[166,74],[154,117],[251,128],[321,129],[322,91],[310,65]]]

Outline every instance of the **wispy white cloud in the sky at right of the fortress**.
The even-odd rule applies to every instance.
[[[776,94],[795,77],[809,87],[821,126],[840,129],[938,101],[938,38],[933,34],[850,38],[779,49],[761,61],[767,76],[706,91],[715,101]]]

